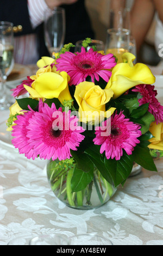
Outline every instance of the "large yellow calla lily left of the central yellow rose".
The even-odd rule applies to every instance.
[[[47,72],[39,76],[35,81],[35,91],[43,98],[58,98],[62,103],[64,100],[72,100],[68,89],[70,76],[66,72],[60,72],[60,75],[54,72]]]

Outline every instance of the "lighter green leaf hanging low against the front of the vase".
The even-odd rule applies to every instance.
[[[71,189],[73,192],[78,192],[84,190],[87,185],[91,183],[93,180],[93,170],[89,173],[83,172],[83,170],[78,169],[77,167],[74,169],[72,179],[71,179]]]

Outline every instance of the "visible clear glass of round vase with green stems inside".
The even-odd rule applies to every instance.
[[[68,164],[63,167],[60,161],[47,163],[47,178],[52,191],[67,206],[80,210],[95,209],[115,194],[117,188],[113,182],[106,181],[96,167],[90,184],[84,190],[72,193],[71,178],[75,167],[76,163],[71,167]]]

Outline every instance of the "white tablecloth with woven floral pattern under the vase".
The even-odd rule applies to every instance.
[[[8,114],[0,112],[1,124]],[[54,196],[46,161],[27,160],[0,133],[0,245],[23,235],[86,233],[113,245],[163,245],[163,159],[156,161],[158,173],[143,170],[129,178],[101,208],[76,210]]]

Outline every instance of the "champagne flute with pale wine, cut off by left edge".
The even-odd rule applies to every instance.
[[[7,77],[14,68],[14,32],[11,22],[0,21],[0,45],[0,109],[3,110],[13,103],[6,86]]]

